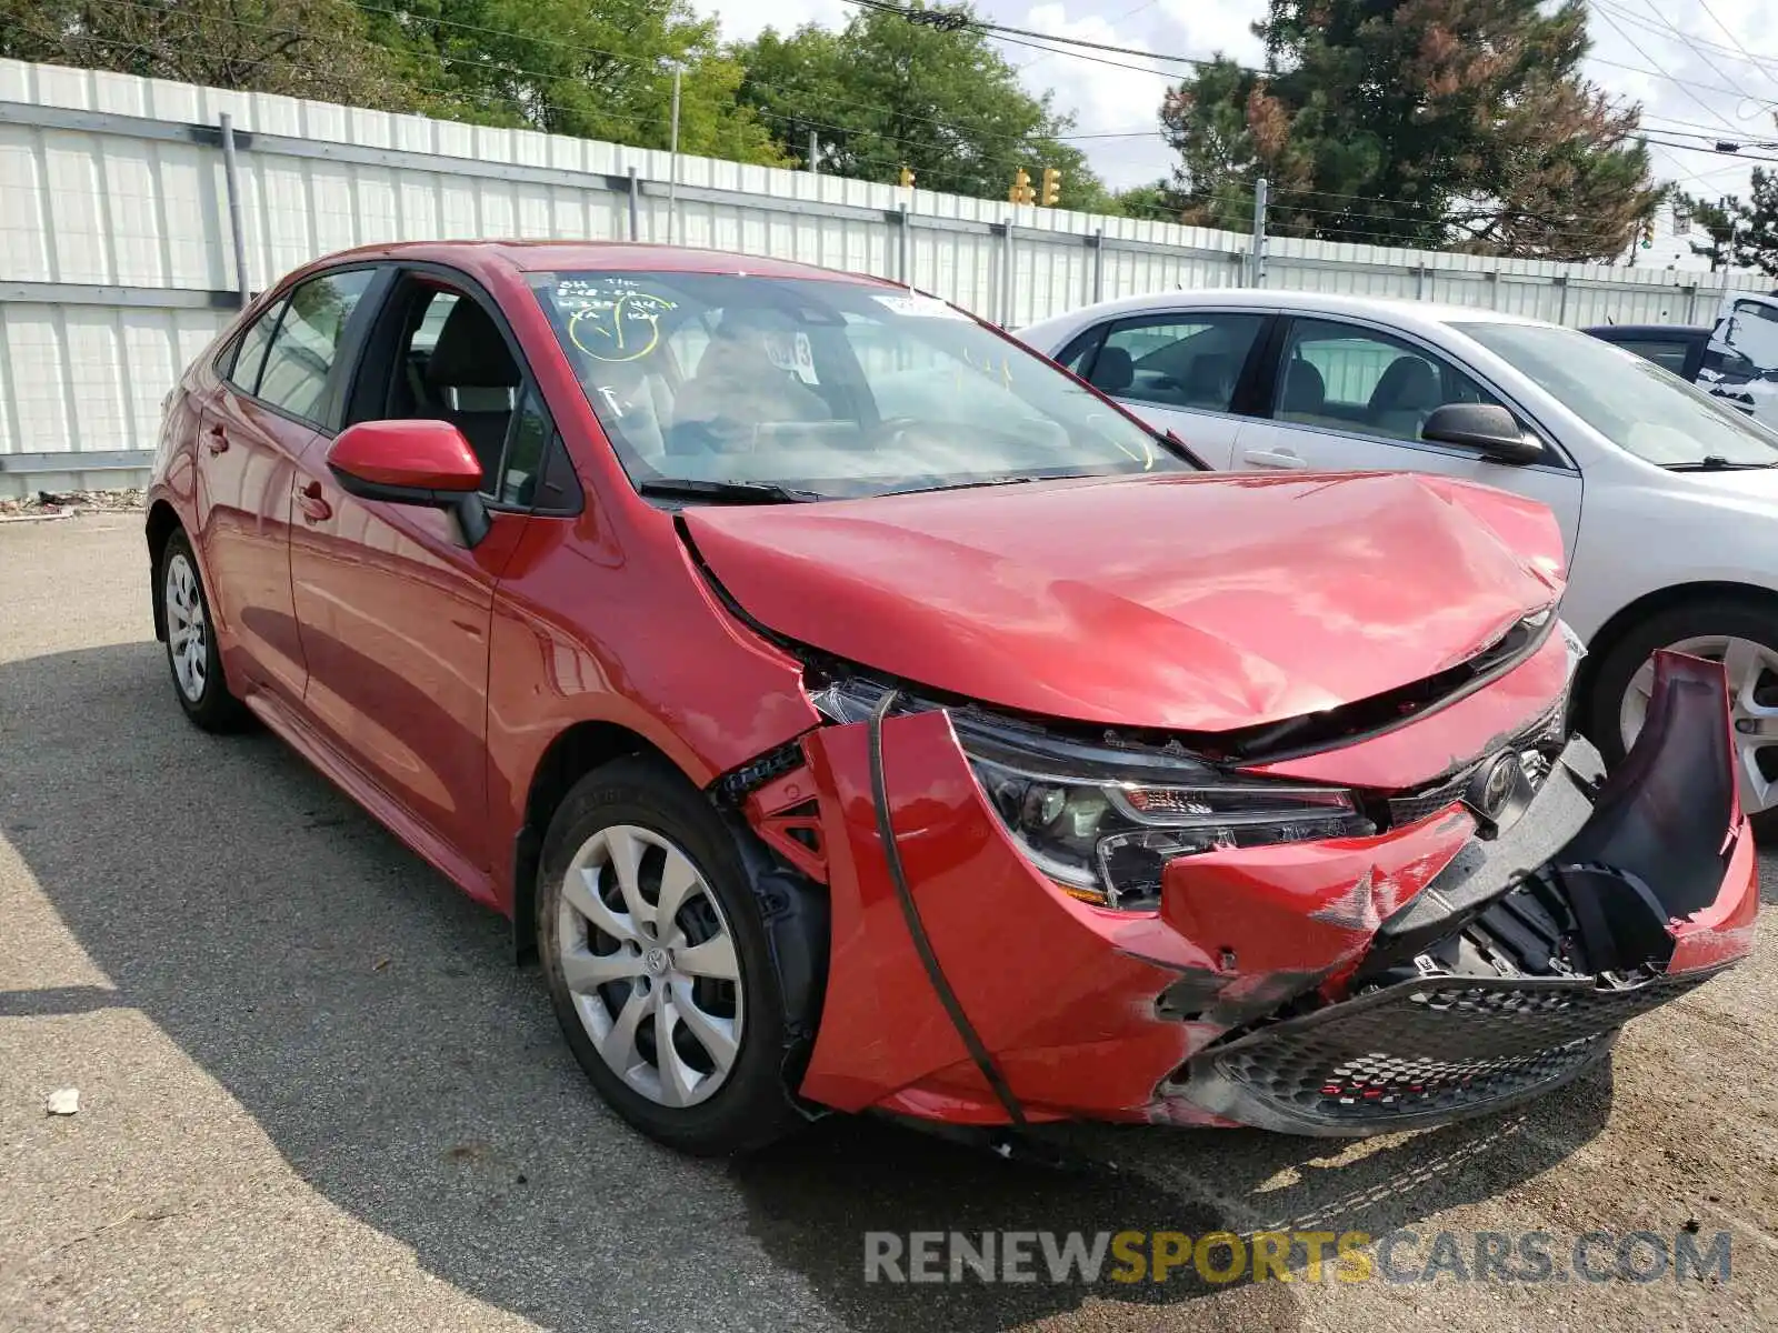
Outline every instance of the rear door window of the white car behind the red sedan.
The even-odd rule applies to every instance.
[[[1241,368],[1262,315],[1181,315],[1111,327],[1093,359],[1092,384],[1156,407],[1234,409]]]

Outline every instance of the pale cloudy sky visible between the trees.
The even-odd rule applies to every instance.
[[[816,21],[839,27],[852,12],[846,0],[692,0],[715,14],[725,37],[747,39],[765,27],[789,32]],[[1261,62],[1250,25],[1266,0],[978,0],[976,12],[994,23],[1063,37],[1207,59],[1221,53],[1243,64]],[[1643,128],[1675,135],[1721,137],[1778,158],[1778,4],[1774,0],[1588,0],[1593,52],[1588,76],[1607,92],[1643,107]],[[1074,112],[1076,133],[1122,135],[1086,139],[1092,167],[1113,188],[1159,180],[1173,156],[1157,133],[1156,108],[1181,66],[1108,55],[1138,73],[1081,55],[1042,53],[1003,44],[1033,91],[1054,91],[1056,108]],[[1746,196],[1748,164],[1734,156],[1652,148],[1655,176],[1703,197]],[[1664,215],[1655,243],[1638,258],[1657,268],[1707,268],[1691,256],[1686,236]]]

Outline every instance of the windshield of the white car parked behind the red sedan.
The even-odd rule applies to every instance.
[[[1662,467],[1778,464],[1778,434],[1678,375],[1577,329],[1456,323],[1622,450]]]

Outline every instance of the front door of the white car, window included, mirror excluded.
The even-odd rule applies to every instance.
[[[1255,471],[1419,471],[1511,491],[1549,505],[1574,555],[1581,473],[1549,443],[1545,460],[1494,462],[1476,450],[1433,444],[1421,427],[1446,403],[1518,411],[1437,348],[1376,325],[1293,316],[1266,375],[1269,419],[1241,437],[1236,466]]]

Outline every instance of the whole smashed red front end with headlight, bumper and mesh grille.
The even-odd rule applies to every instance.
[[[829,887],[797,1091],[983,1129],[1373,1134],[1575,1077],[1748,953],[1757,867],[1721,666],[1661,654],[1604,777],[1549,707],[1563,645],[1533,649],[1294,775],[830,681],[830,725],[745,784]],[[1367,782],[1412,743],[1486,757]]]

